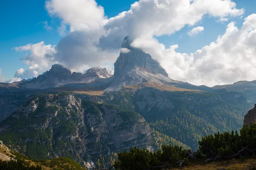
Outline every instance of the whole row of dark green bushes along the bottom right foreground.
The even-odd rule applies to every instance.
[[[256,153],[256,124],[245,125],[240,133],[215,133],[203,137],[197,152],[178,146],[162,146],[161,150],[149,152],[131,148],[129,152],[118,153],[114,166],[117,170],[153,170],[183,167],[209,161],[250,158]]]

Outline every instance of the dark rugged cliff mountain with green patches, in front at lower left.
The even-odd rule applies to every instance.
[[[151,129],[134,111],[70,94],[35,96],[0,124],[0,139],[34,159],[95,161],[130,147],[151,147]]]

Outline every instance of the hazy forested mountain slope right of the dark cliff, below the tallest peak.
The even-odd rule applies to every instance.
[[[140,113],[154,130],[194,150],[203,136],[240,129],[251,107],[236,92],[213,93],[147,83],[99,97],[109,105]]]

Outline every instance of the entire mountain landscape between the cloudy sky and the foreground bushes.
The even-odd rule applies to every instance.
[[[55,64],[30,80],[0,83],[0,140],[32,159],[68,157],[88,167],[111,164],[131,147],[198,149],[202,137],[243,126],[256,81],[195,86],[170,79],[125,37],[114,75]]]

